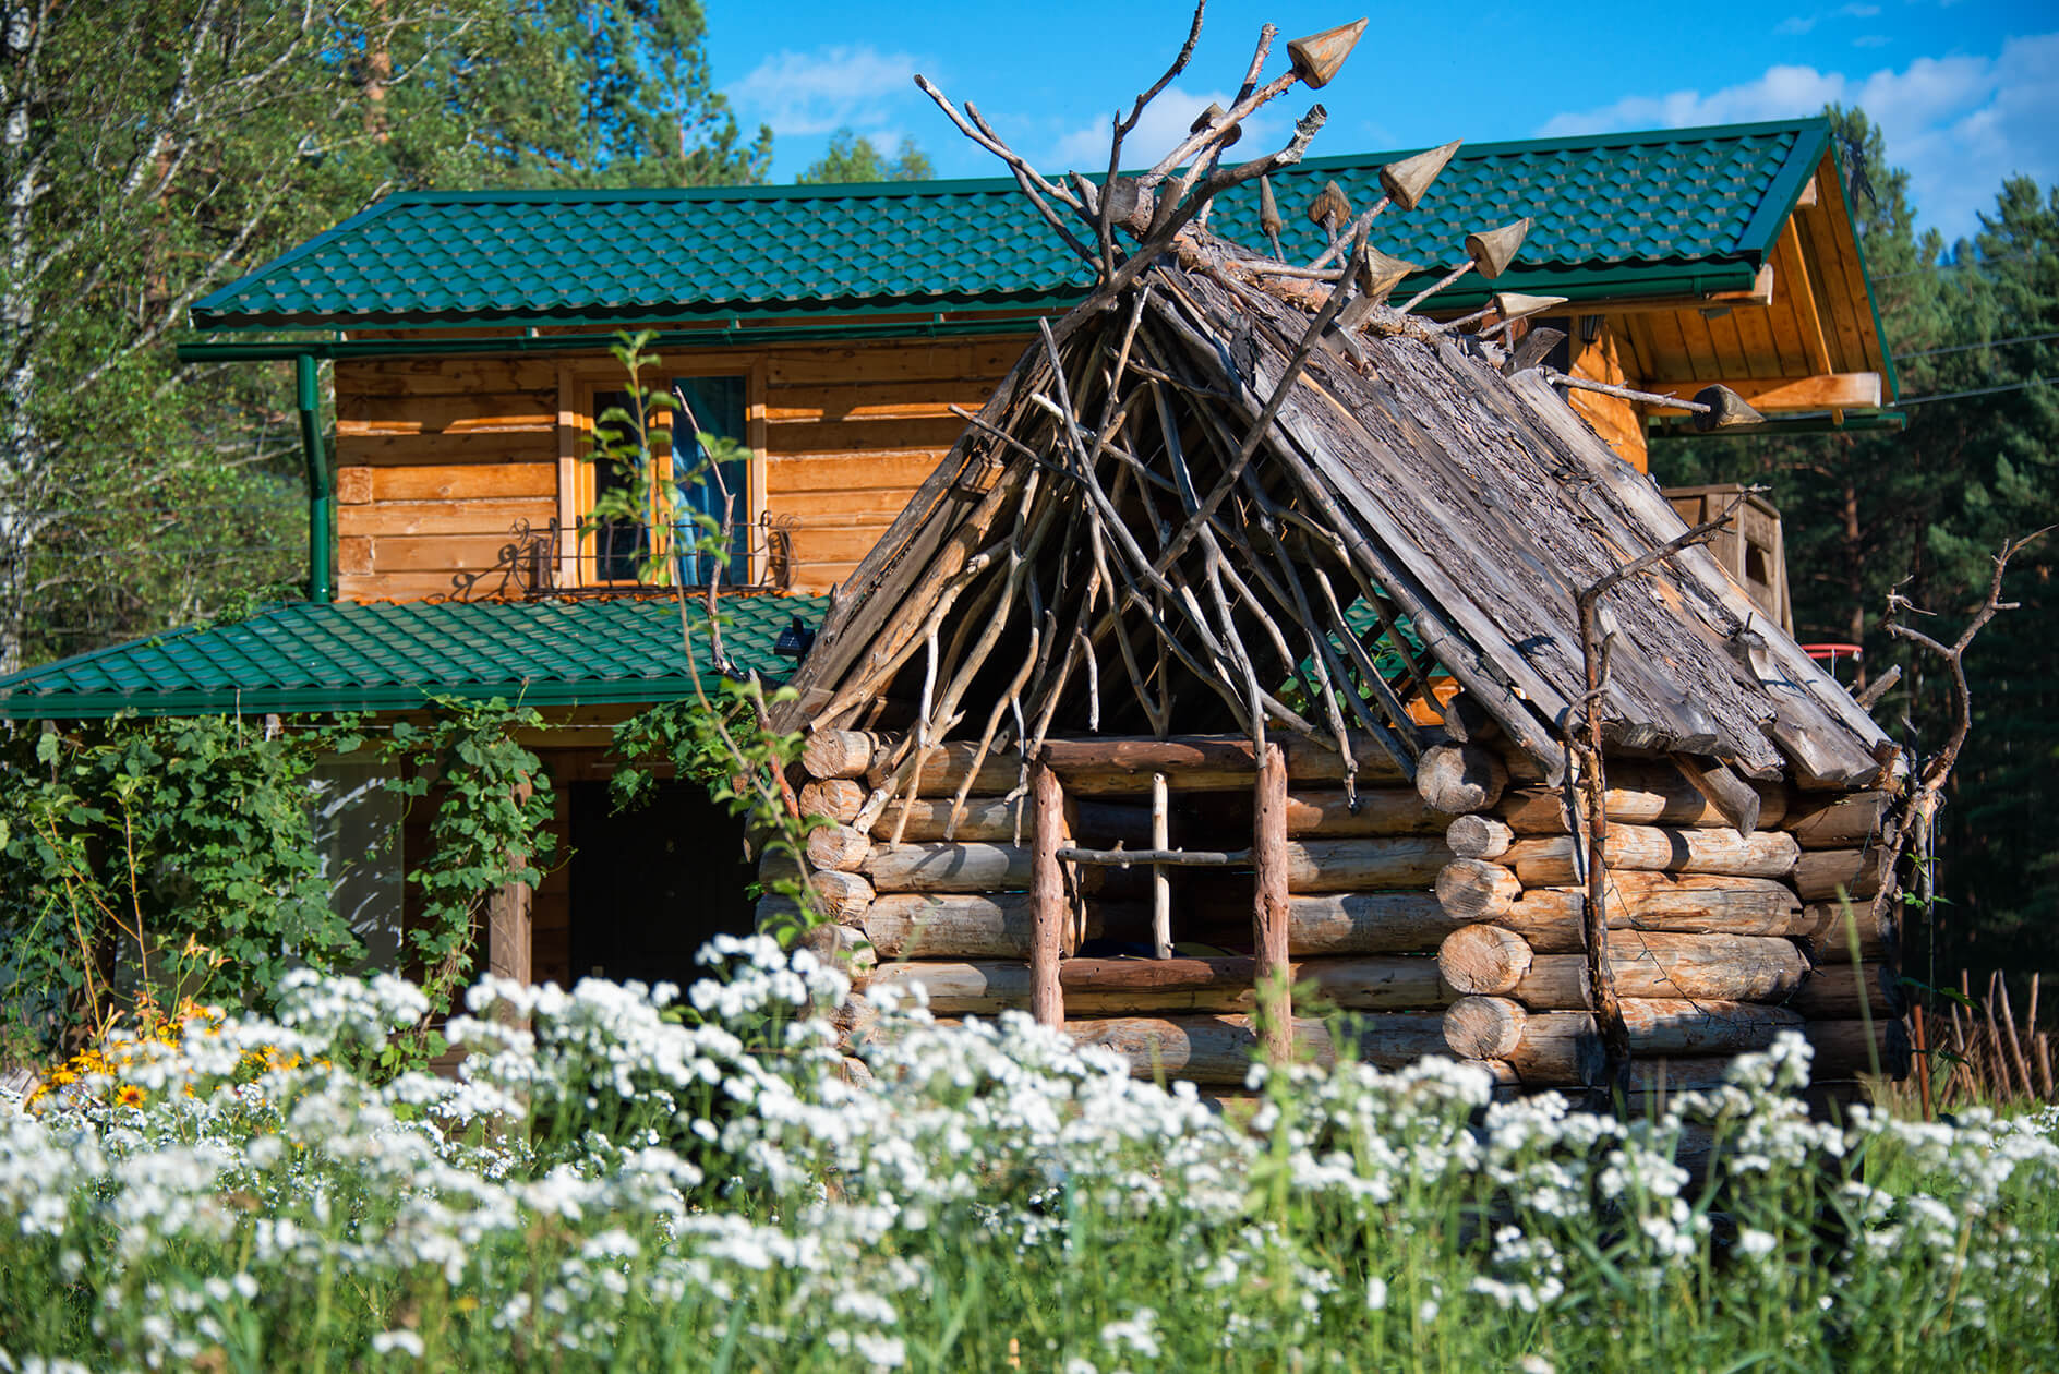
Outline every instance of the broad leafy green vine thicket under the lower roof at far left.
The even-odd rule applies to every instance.
[[[313,746],[218,717],[16,731],[0,752],[0,1049],[196,993],[268,1003],[292,966],[354,960],[317,875]]]

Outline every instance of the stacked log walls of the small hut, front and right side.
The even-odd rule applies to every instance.
[[[1244,1081],[1260,1046],[1252,1014],[1264,964],[1252,935],[1254,863],[1240,853],[1252,845],[1256,777],[1246,742],[1050,744],[1062,799],[1046,814],[1062,834],[1048,853],[1151,849],[1151,775],[1163,770],[1176,799],[1172,845],[1227,863],[1174,869],[1178,948],[1167,960],[1149,958],[1149,865],[1062,865],[1062,896],[1042,894],[1046,911],[1065,911],[1062,958],[1042,964],[1042,997],[1040,845],[1021,762],[943,746],[924,760],[916,799],[881,803],[875,787],[896,744],[826,731],[803,752],[805,805],[834,818],[809,845],[817,900],[865,950],[857,1003],[920,983],[939,1018],[1040,1005],[1137,1073]],[[1289,744],[1277,911],[1301,989],[1301,1053],[1338,1049],[1307,1014],[1324,1005],[1367,1018],[1353,1053],[1373,1063],[1443,1053],[1485,1063],[1509,1090],[1579,1088],[1598,1075],[1565,808],[1526,775],[1534,779],[1491,748],[1450,744],[1417,787],[1369,770],[1353,805],[1334,756]],[[953,805],[959,787],[970,791]],[[1880,890],[1872,840],[1886,797],[1763,787],[1765,828],[1740,836],[1670,764],[1620,762],[1606,805],[1610,962],[1635,1092],[1711,1086],[1730,1057],[1765,1049],[1783,1028],[1816,1044],[1818,1079],[1898,1067],[1892,906],[1868,900]],[[1849,919],[1833,900],[1841,884],[1859,898]]]

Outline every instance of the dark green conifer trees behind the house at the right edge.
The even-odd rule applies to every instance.
[[[2036,379],[2059,371],[2059,192],[2012,179],[1973,241],[1915,233],[1909,177],[1863,113],[1830,109],[1859,150],[1853,196],[1868,276],[1896,354],[1903,433],[1662,441],[1668,484],[1754,480],[1771,486],[1787,536],[1802,641],[1865,647],[1857,682],[1890,663],[1903,684],[1874,711],[1917,756],[1950,729],[1948,678],[1880,630],[1890,587],[1944,618],[1946,639],[1987,591],[2005,538],[2059,519],[2059,400]],[[2026,385],[2028,383],[2028,385]],[[1923,400],[1946,398],[1946,400]],[[1905,966],[1925,983],[1973,966],[2059,962],[2059,550],[2051,540],[2010,564],[2020,610],[1968,651],[1975,729],[1944,812],[1935,882],[1940,921],[1911,931]]]

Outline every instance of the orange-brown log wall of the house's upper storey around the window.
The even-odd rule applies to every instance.
[[[671,350],[675,375],[747,379],[752,515],[793,540],[793,589],[848,577],[978,410],[1019,336],[758,350]],[[605,354],[377,358],[336,365],[336,577],[344,599],[517,595],[513,531],[581,515]]]

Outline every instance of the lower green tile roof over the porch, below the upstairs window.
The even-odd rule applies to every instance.
[[[828,597],[733,595],[723,649],[739,669],[784,680],[774,641]],[[0,719],[404,711],[430,696],[507,696],[533,707],[657,702],[710,678],[706,616],[694,663],[671,597],[564,602],[288,602],[249,620],[177,630],[0,678]]]

